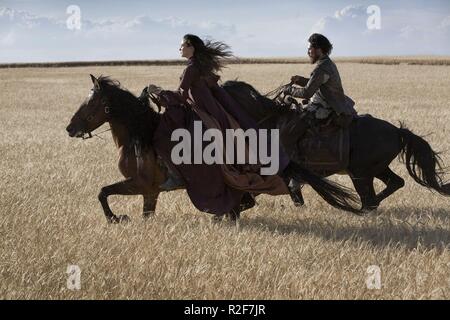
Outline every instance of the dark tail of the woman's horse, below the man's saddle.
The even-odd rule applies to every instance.
[[[356,214],[362,213],[361,209],[355,207],[359,204],[358,197],[351,189],[322,178],[294,162],[289,163],[285,173],[297,181],[308,183],[331,206]]]

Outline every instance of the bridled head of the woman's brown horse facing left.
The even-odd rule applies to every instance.
[[[91,79],[94,87],[66,128],[70,137],[84,138],[110,120],[110,107],[102,90],[102,83],[92,74]]]

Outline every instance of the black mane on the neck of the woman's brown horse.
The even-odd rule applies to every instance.
[[[100,76],[98,83],[108,99],[111,116],[125,125],[130,137],[148,147],[158,126],[160,116],[145,97],[137,98],[121,87],[120,82],[108,76]]]

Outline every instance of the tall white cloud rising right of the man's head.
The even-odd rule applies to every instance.
[[[380,9],[379,30],[367,28],[370,14],[366,6],[350,5],[319,19],[311,31],[329,37],[334,44],[334,54],[341,56],[450,53],[450,16],[442,21],[423,18],[418,22],[405,17],[408,11],[403,11],[402,15]]]

